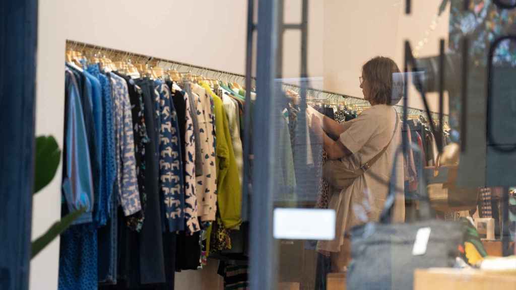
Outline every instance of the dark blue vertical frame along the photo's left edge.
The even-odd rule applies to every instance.
[[[0,1],[0,289],[28,289],[37,0]]]

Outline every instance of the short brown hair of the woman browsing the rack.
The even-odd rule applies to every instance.
[[[396,105],[403,95],[403,77],[394,60],[377,56],[362,66],[362,77],[367,83],[370,101]]]

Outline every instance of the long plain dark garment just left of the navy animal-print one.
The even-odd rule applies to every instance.
[[[146,144],[145,187],[147,208],[143,227],[139,235],[140,283],[165,283],[165,262],[163,254],[162,211],[159,194],[159,163],[156,151],[159,132],[156,126],[154,85],[150,79],[136,79],[135,83],[143,93],[145,122],[150,141]]]

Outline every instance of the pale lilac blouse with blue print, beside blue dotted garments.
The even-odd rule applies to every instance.
[[[129,216],[141,210],[136,178],[131,102],[125,79],[114,73],[110,73],[109,76],[115,113],[116,185],[124,215]]]

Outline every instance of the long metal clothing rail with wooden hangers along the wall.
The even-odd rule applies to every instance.
[[[246,79],[246,76],[243,74],[191,65],[190,63],[186,63],[186,62],[180,62],[180,61],[153,57],[153,56],[148,56],[148,55],[143,55],[143,54],[137,54],[137,53],[127,52],[127,51],[122,51],[122,50],[117,50],[117,49],[111,49],[109,47],[89,44],[89,43],[75,41],[75,40],[67,40],[66,43],[67,43],[67,46],[71,45],[71,46],[74,46],[75,48],[82,49],[82,50],[91,49],[93,51],[98,50],[99,52],[102,51],[102,52],[114,53],[114,54],[126,56],[129,59],[131,59],[131,58],[146,59],[146,63],[149,63],[151,61],[158,61],[158,66],[160,66],[162,68],[169,68],[169,69],[173,68],[174,70],[177,70],[177,71],[185,71],[185,73],[202,74],[207,77],[212,76],[215,79],[227,78],[228,80],[231,80],[233,82],[238,82],[241,84],[244,84],[245,79]],[[251,79],[256,80],[255,77],[251,77]],[[288,84],[288,83],[282,83],[281,85],[282,85],[283,89],[291,89],[297,93],[299,93],[301,91],[301,87],[298,85]],[[343,105],[351,104],[351,105],[356,105],[356,106],[361,106],[361,107],[369,107],[370,106],[366,100],[364,100],[362,98],[358,98],[356,96],[351,96],[351,95],[347,95],[347,94],[336,93],[336,92],[331,92],[331,91],[326,91],[326,90],[321,90],[321,89],[315,89],[315,88],[307,88],[307,101],[309,101],[309,102],[318,102],[318,101],[322,101],[322,100],[334,100],[335,102],[339,102],[341,98],[346,100],[346,102],[343,102]],[[400,114],[402,114],[403,106],[395,105],[395,108]],[[422,115],[422,114],[425,114],[425,110],[409,107],[408,114],[409,115]],[[439,120],[438,113],[431,112],[431,115],[432,115],[433,120]],[[444,115],[444,121],[448,122],[448,115]]]

